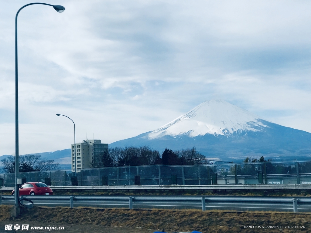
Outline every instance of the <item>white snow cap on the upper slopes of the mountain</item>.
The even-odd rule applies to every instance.
[[[232,135],[241,131],[261,131],[268,126],[256,114],[237,107],[224,100],[207,100],[174,121],[153,130],[147,139],[156,139],[165,135]]]

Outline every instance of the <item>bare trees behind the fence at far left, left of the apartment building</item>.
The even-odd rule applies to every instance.
[[[5,173],[15,172],[15,156],[1,159],[2,169]],[[19,172],[50,171],[59,169],[59,163],[53,159],[42,159],[41,155],[22,155],[19,157]]]

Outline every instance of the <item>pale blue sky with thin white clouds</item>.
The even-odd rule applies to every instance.
[[[0,0],[0,156],[15,152],[15,15]],[[18,15],[19,152],[112,143],[222,99],[311,132],[310,1],[55,0]]]

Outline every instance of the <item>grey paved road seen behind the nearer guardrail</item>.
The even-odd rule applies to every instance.
[[[129,208],[129,196],[95,196],[95,195],[75,195],[73,207],[96,207],[96,208]],[[12,196],[4,195],[2,204],[13,204]],[[70,207],[70,196],[62,195],[49,196],[26,196],[35,205],[39,206],[67,206]],[[39,199],[38,199],[39,198]],[[82,199],[88,198],[88,199]],[[89,199],[90,198],[90,199]],[[96,198],[96,199],[92,199]],[[109,198],[102,200],[102,198]],[[200,196],[132,196],[134,209],[202,209]],[[180,198],[180,200],[173,200]],[[249,201],[254,197],[236,196],[206,196],[206,210],[238,210],[238,211],[289,211],[293,212],[292,197],[257,197],[255,201]],[[255,197],[256,198],[256,197]],[[157,200],[160,199],[160,200]],[[298,212],[311,212],[311,198],[297,197]],[[243,201],[247,200],[247,201]],[[270,200],[268,203],[267,201]],[[275,201],[274,201],[275,200]]]

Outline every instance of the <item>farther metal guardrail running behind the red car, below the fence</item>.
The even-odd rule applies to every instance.
[[[311,185],[106,185],[106,186],[49,186],[52,190],[239,190],[239,189],[309,189]],[[2,187],[12,191],[14,187]]]

